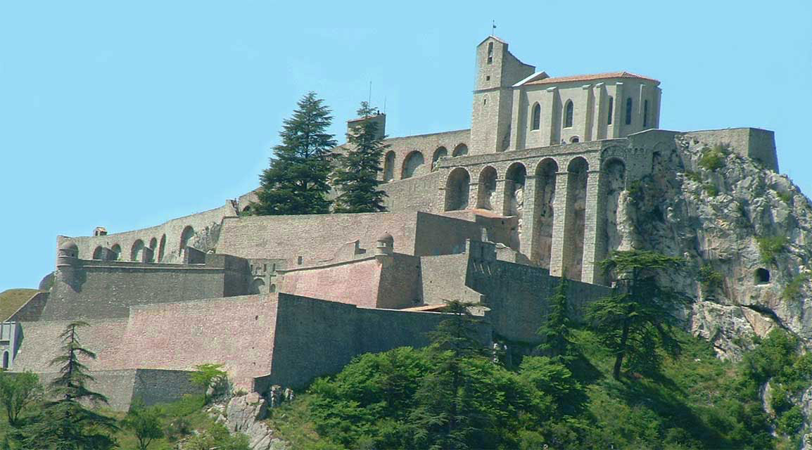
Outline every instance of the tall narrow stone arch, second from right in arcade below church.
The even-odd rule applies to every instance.
[[[586,182],[590,164],[582,157],[572,158],[567,165],[567,207],[564,216],[564,276],[581,281],[584,267],[584,234],[586,226]]]

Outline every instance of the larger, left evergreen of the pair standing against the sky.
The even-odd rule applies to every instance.
[[[260,176],[259,201],[251,205],[257,216],[330,212],[326,195],[336,142],[326,131],[333,118],[315,92],[297,105],[279,133],[282,144],[274,147],[270,166]]]

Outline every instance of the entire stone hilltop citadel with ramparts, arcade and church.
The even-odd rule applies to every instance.
[[[426,345],[449,299],[479,305],[483,339],[535,345],[561,277],[573,315],[610,293],[596,262],[635,246],[629,191],[680,170],[680,148],[724,144],[778,172],[771,131],[660,130],[656,79],[551,77],[496,36],[476,59],[469,130],[386,140],[387,212],[250,216],[249,192],[151,228],[59,236],[50,289],[0,328],[2,367],[48,378],[81,319],[95,389],[117,409],[192,392],[189,371],[209,362],[249,391],[298,388],[358,354]],[[358,120],[385,134],[386,115]],[[751,269],[740,289],[769,282]]]

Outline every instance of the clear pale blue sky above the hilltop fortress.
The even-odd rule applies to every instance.
[[[491,20],[551,76],[661,80],[662,128],[775,131],[781,172],[812,192],[810,0],[0,0],[0,291],[36,287],[58,234],[250,191],[309,90],[339,141],[370,81],[391,136],[468,128]]]

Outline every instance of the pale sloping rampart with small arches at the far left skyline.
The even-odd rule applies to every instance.
[[[236,215],[235,206],[229,201],[220,208],[179,217],[145,229],[102,236],[59,236],[57,245],[62,246],[67,241],[76,242],[79,257],[83,259],[94,259],[94,255],[101,254],[100,249],[107,248],[118,255],[119,260],[143,261],[145,249],[150,249],[153,257],[149,261],[178,263],[183,260],[183,251],[188,245],[197,244],[201,250],[209,250],[205,248],[206,243],[216,241],[213,235],[218,234],[222,219]],[[204,245],[198,244],[198,241]]]

